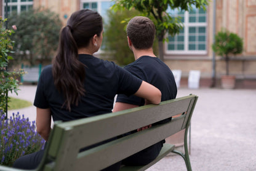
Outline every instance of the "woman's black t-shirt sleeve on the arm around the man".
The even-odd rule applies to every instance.
[[[128,71],[124,70],[120,66],[117,66],[119,82],[118,93],[125,94],[127,96],[133,95],[140,88],[142,80],[133,76]]]

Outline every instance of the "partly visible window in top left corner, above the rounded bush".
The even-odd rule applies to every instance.
[[[20,13],[23,10],[29,10],[33,8],[33,0],[8,0],[7,13],[8,15],[12,12]],[[2,1],[2,16],[6,16],[6,0]]]

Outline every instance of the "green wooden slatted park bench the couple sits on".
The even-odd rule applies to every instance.
[[[185,129],[184,153],[177,151],[174,145],[165,143],[159,156],[150,164],[136,167],[124,166],[121,170],[145,170],[170,152],[182,156],[187,170],[191,170],[187,135],[197,99],[196,95],[188,95],[162,101],[160,105],[146,105],[75,121],[57,122],[50,133],[42,162],[35,170],[101,170],[183,129]],[[177,114],[181,115],[172,118],[170,122],[154,125],[149,129],[86,151],[80,150]],[[18,171],[19,169],[0,166],[0,170]]]

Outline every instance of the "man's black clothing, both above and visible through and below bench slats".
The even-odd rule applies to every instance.
[[[157,87],[162,93],[161,101],[176,98],[177,86],[175,83],[174,75],[172,74],[172,71],[170,71],[170,68],[164,62],[159,60],[159,58],[142,56],[124,68],[137,76],[137,78],[140,78],[143,81],[146,81]],[[119,94],[116,101],[138,106],[143,106],[145,104],[145,100],[143,98],[135,97],[134,95],[127,97],[127,95]],[[171,117],[169,119],[156,122],[152,125],[162,124],[164,122],[169,122],[170,120]],[[130,133],[133,132],[137,132],[137,130],[134,130]],[[130,157],[127,157],[122,162],[125,165],[147,164],[148,162],[151,162],[152,159],[155,159],[156,156],[158,156],[159,151],[161,150],[159,146],[162,146],[163,143],[165,143],[165,140],[159,141],[158,143],[143,149],[142,151]]]

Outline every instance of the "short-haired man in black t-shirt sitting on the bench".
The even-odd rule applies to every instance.
[[[128,44],[134,53],[135,62],[130,63],[124,68],[143,81],[149,82],[161,90],[161,101],[176,98],[177,86],[172,71],[153,53],[154,35],[156,33],[154,23],[147,17],[134,17],[128,23],[126,31]],[[119,94],[113,112],[143,105],[146,105],[143,98],[135,96],[127,97],[126,95]],[[171,118],[168,120],[170,121]],[[162,122],[167,121],[161,121],[156,124],[161,124]],[[151,127],[151,125],[140,128],[137,131],[147,129],[148,127]],[[148,164],[158,156],[164,142],[162,140],[149,148],[143,149],[124,159],[122,164]]]

